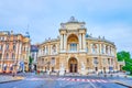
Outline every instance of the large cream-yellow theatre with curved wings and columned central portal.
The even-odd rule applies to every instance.
[[[38,46],[37,70],[59,75],[117,72],[117,48],[105,37],[87,34],[85,22],[74,16],[61,23],[59,36]]]

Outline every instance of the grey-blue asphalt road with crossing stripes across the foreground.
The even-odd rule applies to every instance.
[[[0,88],[127,88],[96,77],[25,76],[25,79],[0,84]]]

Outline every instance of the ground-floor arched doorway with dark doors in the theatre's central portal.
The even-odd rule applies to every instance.
[[[77,73],[77,59],[72,57],[68,61],[69,73]]]

